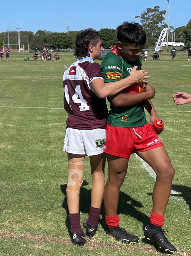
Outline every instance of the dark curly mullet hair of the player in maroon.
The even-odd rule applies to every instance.
[[[91,44],[96,45],[98,43],[100,34],[93,30],[86,29],[83,32],[76,35],[76,47],[73,54],[76,58],[82,58],[90,56],[88,53],[88,47]]]

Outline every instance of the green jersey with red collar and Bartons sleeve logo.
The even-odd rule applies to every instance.
[[[139,56],[135,61],[127,61],[118,54],[114,45],[113,50],[103,58],[100,70],[104,82],[108,83],[128,77],[134,66],[141,66],[141,57]],[[143,91],[143,84],[132,84],[123,90],[123,93],[139,93]],[[114,107],[110,103],[106,123],[118,127],[139,127],[145,125],[147,121],[143,102],[129,107]]]

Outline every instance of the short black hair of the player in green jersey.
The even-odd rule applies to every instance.
[[[130,45],[140,46],[146,43],[146,34],[139,23],[124,21],[117,27],[117,39]]]

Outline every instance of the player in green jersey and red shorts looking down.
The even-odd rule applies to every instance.
[[[141,66],[140,54],[146,43],[143,28],[138,23],[124,22],[117,28],[117,38],[117,45],[114,45],[100,65],[105,83],[128,77],[134,66]],[[176,248],[165,237],[162,225],[175,171],[167,151],[151,125],[158,119],[158,115],[150,100],[141,99],[144,86],[143,83],[135,83],[109,97],[110,111],[106,119],[104,146],[109,173],[103,196],[107,233],[123,243],[132,244],[138,241],[138,237],[120,228],[117,215],[120,187],[127,173],[130,155],[136,153],[156,173],[153,208],[150,223],[144,228],[144,235],[165,251],[174,252]],[[146,121],[144,107],[150,113],[150,123]]]

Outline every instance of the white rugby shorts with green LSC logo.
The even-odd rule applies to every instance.
[[[94,156],[103,153],[105,129],[78,130],[66,128],[63,151]]]

